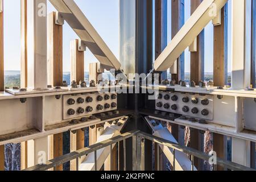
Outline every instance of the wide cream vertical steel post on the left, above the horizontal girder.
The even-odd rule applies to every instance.
[[[27,2],[28,88],[47,89],[47,1]]]

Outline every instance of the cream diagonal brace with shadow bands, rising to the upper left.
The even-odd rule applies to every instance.
[[[119,70],[121,64],[73,0],[49,0],[94,56],[108,67]]]

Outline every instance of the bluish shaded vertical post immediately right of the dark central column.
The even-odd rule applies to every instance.
[[[155,59],[167,46],[167,0],[155,0]],[[167,79],[162,72],[161,79]]]

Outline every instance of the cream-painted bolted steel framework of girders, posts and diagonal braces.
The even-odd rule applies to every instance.
[[[27,39],[24,38],[23,45],[27,45],[27,62],[24,61],[27,75],[22,73],[25,75],[24,80],[27,77],[27,88],[6,88],[0,93],[0,124],[3,126],[0,128],[0,146],[11,142],[27,142],[25,155],[30,158],[27,159],[26,170],[59,170],[66,162],[71,162],[71,168],[76,170],[99,170],[103,164],[105,169],[110,170],[149,170],[152,169],[152,155],[156,157],[155,168],[160,169],[160,158],[163,160],[160,150],[171,163],[172,169],[200,170],[199,163],[195,164],[195,157],[209,160],[212,156],[203,154],[193,146],[183,146],[179,129],[184,127],[191,128],[194,133],[197,130],[201,133],[210,131],[232,137],[232,162],[217,158],[214,169],[222,166],[233,170],[251,170],[251,142],[256,142],[256,90],[250,88],[253,62],[251,47],[255,46],[251,41],[251,36],[254,36],[251,30],[255,28],[251,27],[251,18],[255,17],[250,10],[254,8],[254,3],[249,0],[232,1],[232,88],[228,88],[224,85],[214,86],[212,82],[207,85],[204,81],[193,80],[186,83],[184,80],[164,79],[160,84],[144,85],[139,80],[104,82],[102,76],[99,76],[104,69],[114,68],[115,73],[118,73],[122,72],[122,65],[73,0],[49,0],[59,12],[49,15],[53,18],[50,22],[53,24],[49,31],[52,46],[48,47],[51,61],[47,63],[47,16],[43,14],[47,12],[46,0],[22,1],[23,8],[27,10],[27,15],[24,15],[27,18],[27,28],[22,29],[24,35],[28,36]],[[176,60],[189,46],[191,52],[197,52],[197,56],[200,54],[197,36],[210,20],[213,20],[214,26],[224,23],[221,21],[224,16],[221,9],[226,2],[227,0],[202,1],[187,23],[179,31],[175,30],[176,36],[154,62],[152,1],[121,1],[123,9],[123,5],[127,5],[135,6],[136,10],[135,17],[129,16],[135,18],[131,20],[135,23],[131,28],[134,34],[130,32],[127,37],[124,33],[122,35],[122,44],[127,44],[126,38],[134,38],[130,42],[134,52],[131,51],[129,56],[133,59],[122,58],[121,61],[124,63],[126,60],[125,65],[130,65],[130,68],[125,68],[125,73],[146,75],[153,71],[166,72],[172,67],[173,70],[176,69],[177,75],[182,75],[179,72],[183,69],[177,68],[179,65],[175,65]],[[166,2],[163,1],[164,3]],[[3,15],[2,5],[0,0],[0,17]],[[180,7],[180,4],[174,3],[173,6]],[[163,6],[158,7],[163,9]],[[164,11],[160,13],[162,16],[166,15]],[[176,13],[179,15],[180,11]],[[129,23],[130,19],[122,16],[122,20]],[[62,57],[60,52],[56,53],[56,49],[60,50],[60,47],[55,41],[62,44],[61,28],[64,21],[80,37],[80,40],[71,43],[70,86],[65,81],[56,85],[56,82],[60,84],[56,75],[62,73],[62,68],[59,68],[62,63],[58,64],[56,61],[61,62]],[[164,20],[161,22],[160,24],[166,23]],[[176,23],[178,27],[180,22]],[[127,24],[122,24],[121,27],[125,31]],[[159,42],[162,44],[156,45],[161,45],[158,49],[162,51],[163,39],[159,39]],[[86,48],[100,61],[100,64],[90,64],[89,84],[84,81],[84,68],[81,68],[84,63],[81,55]],[[122,56],[124,55],[123,53]],[[48,66],[51,74],[47,73]],[[201,67],[197,68],[195,72],[203,72],[200,69]],[[51,78],[49,80],[53,85],[47,84],[47,77]],[[184,73],[178,77],[184,77]],[[139,85],[135,85],[138,82]],[[119,93],[121,89],[122,93]],[[156,100],[150,100],[149,93],[129,93],[131,90],[149,90],[157,97]],[[15,114],[13,110],[16,110]],[[171,125],[172,132],[167,129],[167,124]],[[78,140],[84,135],[85,127],[90,127],[91,146],[84,148],[84,143],[81,144]],[[62,155],[61,135],[65,131],[70,131],[73,152]],[[155,154],[152,154],[152,142],[156,147]],[[118,161],[115,156],[117,147]],[[0,155],[0,165],[1,160]],[[119,168],[115,165],[117,162]]]

